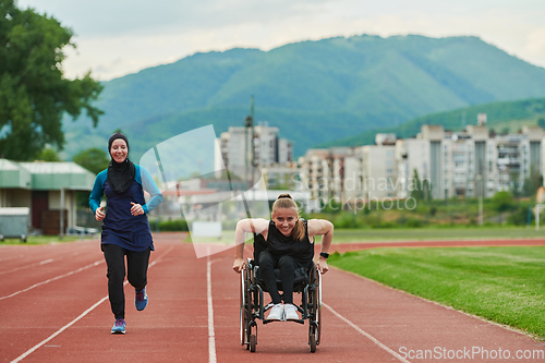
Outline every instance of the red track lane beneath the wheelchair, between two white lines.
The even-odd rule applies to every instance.
[[[245,249],[250,256],[251,249]],[[216,348],[218,362],[234,361],[298,361],[298,362],[389,362],[393,356],[377,347],[364,336],[351,331],[344,322],[338,319],[331,312],[323,308],[323,340],[316,353],[308,348],[308,324],[300,325],[290,322],[279,322],[263,325],[257,320],[257,348],[251,353],[240,343],[239,323],[239,279],[231,266],[233,252],[221,253],[213,265],[213,291],[215,310]],[[324,281],[329,278],[324,276]],[[325,291],[324,291],[325,293]],[[326,299],[327,294],[325,294]],[[265,298],[265,301],[269,301]],[[294,301],[300,303],[301,295],[294,294]],[[368,358],[370,360],[364,360]],[[393,359],[393,361],[396,361]]]

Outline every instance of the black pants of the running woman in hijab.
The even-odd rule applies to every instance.
[[[106,265],[108,266],[108,295],[111,312],[116,318],[125,318],[125,294],[123,282],[126,279],[137,291],[147,285],[147,265],[152,249],[135,252],[120,247],[117,244],[101,244]]]

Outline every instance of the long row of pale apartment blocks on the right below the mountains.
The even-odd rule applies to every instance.
[[[537,126],[489,135],[484,123],[460,132],[423,125],[413,138],[377,134],[375,145],[311,149],[300,159],[300,176],[323,201],[405,198],[417,185],[428,198],[491,197],[520,192],[525,180],[543,174],[543,142]]]

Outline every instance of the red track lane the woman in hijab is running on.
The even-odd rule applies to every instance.
[[[206,261],[194,257],[191,244],[158,240],[145,311],[135,310],[134,289],[125,286],[126,335],[110,335],[113,317],[106,301],[22,362],[208,362]],[[105,295],[106,276],[97,281]]]

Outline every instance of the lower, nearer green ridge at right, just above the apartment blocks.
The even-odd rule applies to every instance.
[[[401,125],[378,128],[354,136],[323,143],[317,147],[373,145],[377,133],[395,133],[398,138],[413,137],[424,124],[443,125],[446,130],[461,131],[469,124],[476,124],[479,113],[486,113],[486,125],[496,133],[505,129],[516,133],[523,125],[535,125],[540,119],[545,120],[545,98],[492,102],[427,114]]]

